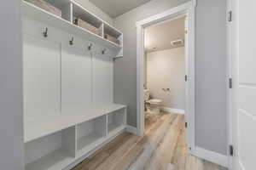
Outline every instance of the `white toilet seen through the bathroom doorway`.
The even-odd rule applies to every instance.
[[[150,99],[150,92],[148,89],[144,90],[144,100],[149,113],[160,113],[160,106],[162,105],[163,101],[161,99]]]

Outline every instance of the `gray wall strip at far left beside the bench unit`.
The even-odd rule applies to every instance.
[[[20,0],[0,5],[0,168],[23,169]]]

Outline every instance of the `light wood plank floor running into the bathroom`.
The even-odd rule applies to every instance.
[[[145,135],[119,135],[73,170],[224,170],[189,156],[182,115],[146,116]]]

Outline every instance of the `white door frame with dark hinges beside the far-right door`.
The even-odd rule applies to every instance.
[[[238,145],[238,86],[239,86],[239,1],[227,0],[228,11],[232,11],[232,20],[228,24],[228,56],[230,59],[230,77],[233,80],[233,87],[230,89],[230,111],[228,117],[229,144],[233,146],[233,156],[229,156],[229,167],[232,170],[240,170],[239,145]]]

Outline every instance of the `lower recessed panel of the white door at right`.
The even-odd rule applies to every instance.
[[[239,157],[245,169],[255,168],[256,157],[256,116],[247,111],[240,110],[238,113],[238,149]]]

